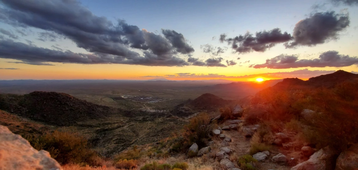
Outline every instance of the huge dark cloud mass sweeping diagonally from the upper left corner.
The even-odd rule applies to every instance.
[[[0,0],[0,21],[22,28],[38,28],[44,41],[55,41],[55,36],[69,38],[77,47],[93,54],[51,51],[30,46],[22,53],[21,60],[39,60],[35,52],[50,50],[48,57],[40,57],[40,62],[72,63],[123,63],[147,66],[186,66],[188,62],[176,57],[178,53],[188,54],[194,49],[184,36],[174,30],[163,30],[165,37],[129,25],[124,20],[112,23],[106,17],[94,15],[76,0]],[[47,34],[54,33],[54,34]],[[46,37],[47,39],[44,39]],[[11,46],[15,42],[11,42]],[[4,44],[2,44],[4,45]],[[11,46],[14,51],[24,47]],[[140,53],[132,51],[139,49]],[[9,51],[7,51],[9,52]],[[56,54],[56,55],[54,55]],[[70,55],[70,56],[68,56]],[[61,56],[61,57],[59,57]],[[1,56],[3,57],[3,56]],[[55,57],[55,58],[51,58]],[[19,58],[18,52],[9,52],[6,58]]]

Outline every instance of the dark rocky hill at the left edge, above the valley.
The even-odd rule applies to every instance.
[[[1,94],[0,109],[58,126],[102,118],[113,111],[110,107],[89,103],[68,94],[44,91],[25,95]]]

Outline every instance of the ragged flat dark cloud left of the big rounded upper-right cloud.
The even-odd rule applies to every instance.
[[[255,36],[250,32],[245,35],[240,35],[234,38],[226,38],[226,34],[220,35],[220,42],[228,42],[231,48],[239,54],[250,53],[253,51],[264,52],[267,49],[274,47],[277,43],[283,43],[292,39],[291,34],[282,33],[279,28],[269,31],[256,32]]]

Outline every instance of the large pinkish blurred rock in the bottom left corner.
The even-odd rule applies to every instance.
[[[0,125],[0,169],[62,170],[49,152],[35,150],[28,141]]]

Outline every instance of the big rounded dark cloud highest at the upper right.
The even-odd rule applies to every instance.
[[[286,43],[285,46],[315,46],[338,39],[338,33],[348,25],[348,15],[335,14],[334,11],[315,13],[296,24],[293,32],[294,41]]]

